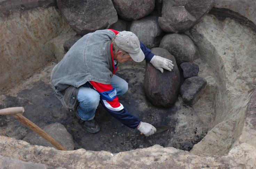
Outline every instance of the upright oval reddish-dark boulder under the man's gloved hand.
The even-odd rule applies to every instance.
[[[180,75],[175,58],[163,48],[153,48],[152,53],[173,61],[172,71],[164,70],[161,73],[154,66],[147,62],[144,78],[145,95],[155,106],[170,107],[177,100],[180,87]]]

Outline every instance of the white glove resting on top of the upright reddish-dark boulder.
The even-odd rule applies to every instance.
[[[150,61],[150,63],[153,64],[153,66],[160,70],[163,73],[163,69],[171,71],[173,69],[173,61],[169,59],[165,59],[161,56],[154,55]]]

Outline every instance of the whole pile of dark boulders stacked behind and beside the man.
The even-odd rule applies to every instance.
[[[131,31],[153,48],[152,53],[173,61],[173,71],[165,70],[163,74],[146,63],[144,90],[152,104],[173,106],[178,91],[185,103],[193,105],[197,101],[206,81],[197,77],[199,67],[193,63],[196,46],[183,33],[211,10],[214,0],[57,0],[57,4],[80,37],[99,29]],[[78,39],[66,42],[65,51]]]

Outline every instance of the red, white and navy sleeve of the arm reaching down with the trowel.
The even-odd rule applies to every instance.
[[[123,107],[119,103],[117,91],[111,84],[103,84],[94,81],[89,81],[92,87],[99,92],[101,104],[114,118],[130,128],[136,128],[140,119]]]

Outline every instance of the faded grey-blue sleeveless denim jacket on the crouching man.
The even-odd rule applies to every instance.
[[[97,30],[80,38],[51,72],[51,85],[63,107],[74,111],[78,106],[79,87],[87,81],[110,84],[113,76],[110,51],[111,30]]]

